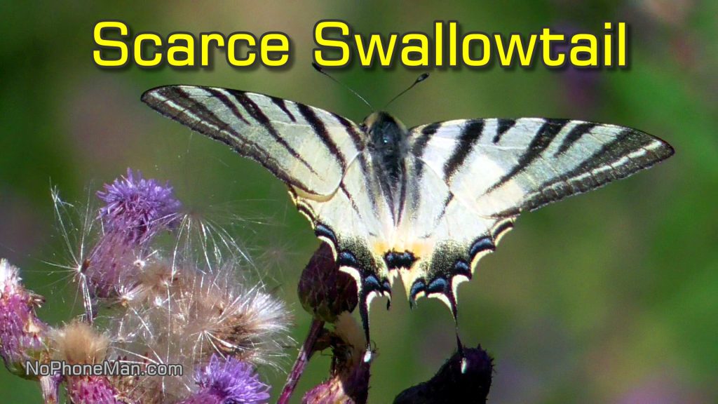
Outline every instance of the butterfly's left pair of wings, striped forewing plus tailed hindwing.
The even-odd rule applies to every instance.
[[[391,221],[356,124],[312,106],[225,88],[164,86],[144,93],[142,101],[289,185],[297,209],[332,246],[340,270],[357,280],[363,301],[391,292],[378,254],[388,248],[383,235]],[[368,304],[360,312],[368,335]]]

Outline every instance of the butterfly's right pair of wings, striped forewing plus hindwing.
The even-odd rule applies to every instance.
[[[402,277],[410,298],[442,298],[456,312],[456,288],[522,211],[625,178],[673,155],[635,129],[563,119],[470,119],[410,131],[422,198],[413,223],[431,244]],[[437,208],[439,203],[441,208]]]

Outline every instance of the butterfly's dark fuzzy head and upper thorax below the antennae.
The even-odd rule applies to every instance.
[[[384,155],[403,154],[406,150],[406,127],[390,114],[373,112],[364,119],[362,128],[368,134],[373,150]]]

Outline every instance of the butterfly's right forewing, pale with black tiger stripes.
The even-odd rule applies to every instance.
[[[410,137],[454,197],[487,217],[586,192],[673,154],[635,129],[566,119],[446,121],[411,129]]]

